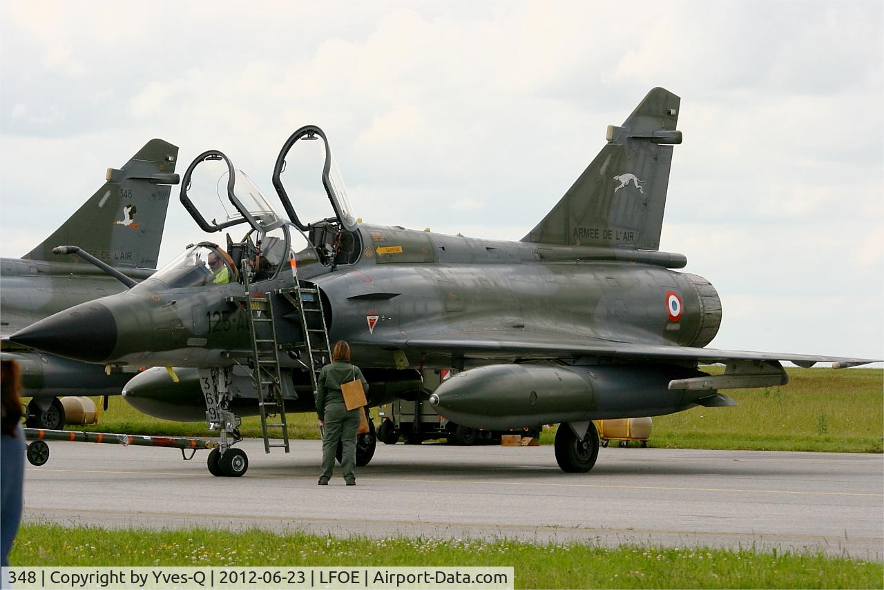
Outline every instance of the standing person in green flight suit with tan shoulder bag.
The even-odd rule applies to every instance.
[[[369,382],[365,381],[359,367],[350,364],[350,344],[339,340],[331,352],[331,364],[325,365],[319,372],[316,383],[316,415],[319,425],[323,427],[323,464],[319,472],[319,485],[327,486],[331,479],[338,442],[342,443],[340,466],[344,480],[348,486],[356,485],[353,473],[356,464],[356,429],[359,427],[359,412],[362,408],[347,410],[344,396],[341,395],[341,383],[358,379],[362,382],[362,390],[368,392]]]

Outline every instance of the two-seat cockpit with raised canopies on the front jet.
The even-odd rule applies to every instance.
[[[317,139],[322,139],[316,144],[320,145],[323,158],[321,179],[328,197],[326,207],[331,204],[334,215],[324,216],[314,223],[302,223],[289,200],[281,175],[286,170],[286,156],[294,144],[298,140]],[[234,168],[222,152],[210,150],[197,156],[181,183],[182,204],[203,231],[223,231],[240,224],[246,224],[248,231],[238,242],[234,242],[228,234],[225,248],[210,242],[189,246],[187,252],[156,273],[155,277],[170,287],[173,284],[176,287],[222,284],[220,281],[224,281],[224,277],[227,282],[243,282],[248,278],[248,282],[253,283],[277,276],[292,261],[299,269],[318,263],[324,268],[321,272],[328,272],[359,260],[362,238],[358,221],[347,200],[343,178],[322,130],[307,125],[293,133],[278,156],[273,171],[273,185],[285,209],[285,216],[272,207],[248,174]],[[302,193],[299,192],[299,196],[299,203],[305,201]],[[204,215],[204,212],[210,213]],[[198,269],[211,270],[210,253],[214,254],[213,261],[215,258],[222,261],[226,269],[226,273],[217,281],[215,274],[209,276],[205,272],[197,272]],[[309,274],[315,275],[319,268],[311,270]]]

